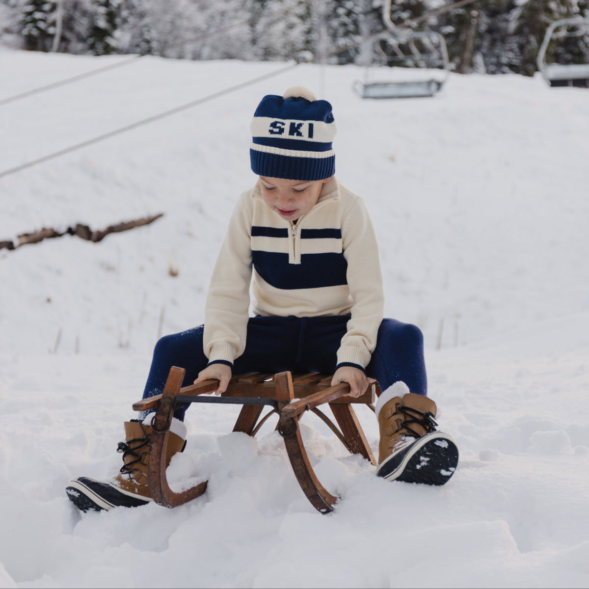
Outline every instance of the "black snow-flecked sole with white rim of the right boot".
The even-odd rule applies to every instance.
[[[458,447],[452,436],[431,432],[393,452],[378,466],[376,475],[387,481],[444,485],[458,466]]]

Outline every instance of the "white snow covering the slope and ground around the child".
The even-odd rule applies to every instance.
[[[0,50],[0,100],[119,57]],[[284,64],[144,57],[0,107],[0,173]],[[361,100],[357,67],[300,65],[0,178],[0,240],[163,212],[92,244],[0,250],[0,587],[587,587],[587,90],[451,75],[435,98]],[[444,487],[391,483],[305,417],[320,515],[280,436],[198,405],[174,488],[206,494],[80,514],[71,478],[117,472],[158,334],[199,325],[264,94],[326,89],[337,176],[375,221],[386,316],[419,325]],[[177,273],[177,276],[173,274]],[[378,428],[358,409],[373,449]]]

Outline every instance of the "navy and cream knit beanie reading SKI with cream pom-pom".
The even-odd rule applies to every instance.
[[[335,173],[332,141],[337,128],[332,105],[317,100],[308,88],[293,86],[284,96],[264,96],[250,129],[255,174],[307,181],[324,180]]]

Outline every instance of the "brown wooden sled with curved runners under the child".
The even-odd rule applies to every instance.
[[[252,372],[234,375],[227,391],[220,396],[200,396],[216,391],[217,380],[207,380],[198,385],[182,387],[185,370],[173,366],[168,375],[164,392],[133,404],[134,411],[157,409],[152,421],[150,453],[148,460],[148,485],[153,500],[158,505],[177,507],[202,495],[207,482],[176,493],[168,485],[166,478],[166,448],[174,409],[180,403],[237,403],[243,405],[233,428],[234,432],[244,432],[254,436],[262,424],[276,413],[279,434],[284,438],[290,464],[307,499],[313,507],[323,514],[333,511],[338,497],[330,494],[317,479],[300,436],[299,419],[305,411],[312,411],[319,416],[334,432],[337,438],[352,454],[360,454],[372,464],[376,464],[372,450],[356,413],[353,403],[368,405],[374,411],[375,395],[380,395],[380,388],[375,379],[369,379],[367,391],[358,398],[348,395],[349,385],[340,383],[330,386],[332,376],[317,373],[291,375],[290,372],[279,374],[261,374]],[[337,426],[318,409],[319,405],[329,403]],[[272,409],[259,420],[263,406]]]

